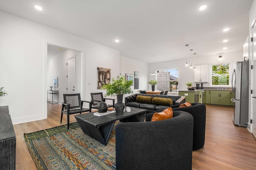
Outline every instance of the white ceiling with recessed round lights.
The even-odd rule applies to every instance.
[[[186,53],[195,57],[242,50],[252,1],[0,0],[0,10],[153,63],[152,55],[154,62],[162,62],[185,59]],[[36,4],[44,10],[36,10]],[[206,10],[198,10],[204,4]],[[230,30],[222,31],[226,27]]]

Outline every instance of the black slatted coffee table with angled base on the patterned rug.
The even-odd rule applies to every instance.
[[[107,145],[110,133],[114,127],[115,121],[138,122],[144,121],[146,110],[130,107],[131,111],[124,111],[122,115],[110,113],[104,116],[94,116],[93,112],[75,115],[82,131],[96,139],[100,143]]]

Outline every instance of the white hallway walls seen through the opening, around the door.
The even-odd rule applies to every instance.
[[[74,93],[81,93],[81,52],[73,50],[64,50],[56,56],[48,57],[47,61],[47,87],[53,86],[53,78],[58,77],[58,87],[52,90],[58,90],[58,102],[64,102],[63,94],[66,94],[66,62],[67,59],[76,56],[76,82]],[[48,94],[52,98],[52,94]],[[57,102],[57,96],[53,95],[54,102]]]

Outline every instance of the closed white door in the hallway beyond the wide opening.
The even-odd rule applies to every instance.
[[[76,56],[67,59],[67,94],[76,93]]]

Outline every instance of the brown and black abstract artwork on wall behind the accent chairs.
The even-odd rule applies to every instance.
[[[101,89],[103,84],[110,83],[110,68],[97,67],[97,89]]]

